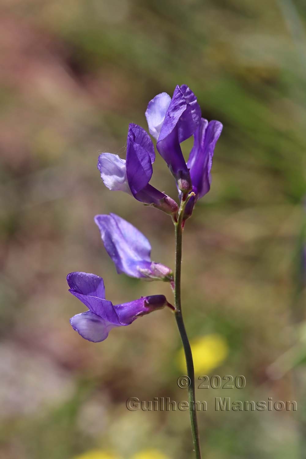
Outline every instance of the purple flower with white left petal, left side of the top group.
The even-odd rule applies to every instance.
[[[149,185],[154,161],[155,151],[149,134],[137,124],[130,123],[126,160],[111,153],[101,153],[97,167],[109,190],[125,191],[140,202],[169,214],[176,213],[177,203]]]

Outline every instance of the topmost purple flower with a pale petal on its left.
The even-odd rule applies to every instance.
[[[152,99],[145,112],[150,134],[156,139],[157,150],[183,193],[191,190],[191,180],[180,143],[198,127],[201,109],[194,93],[186,84],[177,86],[172,99],[163,92]]]

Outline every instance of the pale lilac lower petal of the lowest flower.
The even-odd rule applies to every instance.
[[[72,328],[85,338],[85,340],[93,342],[104,341],[110,330],[118,326],[101,319],[90,311],[74,315],[70,319],[70,323]]]

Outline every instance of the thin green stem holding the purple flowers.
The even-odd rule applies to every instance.
[[[193,358],[191,353],[191,347],[186,333],[183,315],[182,315],[182,304],[181,304],[181,265],[182,265],[182,235],[183,235],[183,216],[184,209],[189,201],[190,197],[194,196],[194,193],[190,193],[186,199],[181,201],[181,205],[178,211],[177,221],[173,220],[175,226],[175,288],[174,288],[174,299],[175,299],[175,319],[178,324],[178,330],[181,335],[183,342],[184,353],[186,358],[187,365],[187,375],[190,379],[190,385],[188,387],[189,395],[189,413],[190,413],[190,423],[191,423],[191,433],[192,440],[194,444],[195,458],[201,459],[200,452],[200,440],[199,440],[199,430],[198,430],[198,421],[196,417],[195,409],[195,369],[193,364]]]

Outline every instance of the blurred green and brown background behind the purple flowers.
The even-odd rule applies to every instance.
[[[183,306],[203,457],[305,458],[306,5],[302,0],[3,0],[0,71],[0,458],[192,458],[188,412],[130,412],[128,397],[187,400],[169,310],[83,340],[71,271],[107,298],[171,290],[117,275],[93,217],[138,227],[174,264],[171,219],[107,190],[98,153],[124,157],[157,93],[188,84],[224,124],[212,188],[186,224]],[[192,140],[183,145],[188,154]],[[151,183],[176,196],[157,156]],[[305,284],[304,284],[305,285]],[[200,384],[201,381],[197,381]],[[297,412],[216,412],[214,397],[295,400]]]

